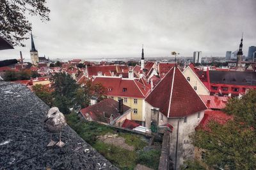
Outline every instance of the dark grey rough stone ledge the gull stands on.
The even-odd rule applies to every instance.
[[[0,81],[0,96],[0,169],[116,169],[68,126],[65,146],[47,148],[49,108],[27,87]]]

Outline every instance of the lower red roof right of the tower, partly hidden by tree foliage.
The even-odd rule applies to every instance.
[[[204,129],[209,131],[207,124],[209,124],[211,120],[214,120],[219,124],[225,124],[228,120],[232,120],[232,118],[233,117],[231,115],[227,115],[223,111],[207,110],[204,113],[204,118],[202,118],[196,129]]]

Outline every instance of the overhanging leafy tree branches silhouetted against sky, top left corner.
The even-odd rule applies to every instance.
[[[45,6],[45,0],[1,0],[0,1],[0,36],[3,36],[13,45],[21,45],[24,39],[28,39],[31,31],[31,22],[27,16],[39,15],[42,21],[48,21],[49,8]]]

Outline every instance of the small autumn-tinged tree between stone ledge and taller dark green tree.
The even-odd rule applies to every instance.
[[[33,91],[35,92],[36,96],[38,96],[44,103],[46,103],[49,107],[52,106],[52,94],[51,90],[45,87],[45,85],[34,85],[32,87]]]

